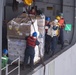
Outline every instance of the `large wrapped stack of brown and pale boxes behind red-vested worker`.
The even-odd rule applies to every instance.
[[[20,56],[21,62],[23,62],[26,48],[25,36],[32,34],[34,32],[34,28],[38,34],[38,40],[40,41],[39,48],[41,55],[42,57],[44,56],[44,23],[42,23],[40,27],[38,25],[39,18],[37,17],[37,19],[35,19],[35,16],[30,16],[32,22],[34,23],[33,25],[27,14],[22,14],[7,24],[8,55],[11,60]],[[44,20],[42,21],[44,22]],[[40,60],[39,48],[38,46],[35,47],[34,62],[38,62],[38,60]]]

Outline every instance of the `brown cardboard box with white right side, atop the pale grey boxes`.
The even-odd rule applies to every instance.
[[[12,26],[12,29],[10,29]],[[21,23],[20,25],[7,25],[7,36],[12,38],[25,38],[26,34],[32,34],[35,31],[38,32],[37,20],[34,20],[34,24]]]

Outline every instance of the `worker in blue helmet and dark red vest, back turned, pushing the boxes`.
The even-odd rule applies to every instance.
[[[25,57],[24,57],[24,67],[28,65],[28,59],[30,57],[30,67],[33,68],[34,65],[34,56],[35,56],[35,46],[39,45],[39,41],[37,40],[37,32],[34,32],[32,36],[28,36],[25,38],[26,40],[26,49],[25,49]]]

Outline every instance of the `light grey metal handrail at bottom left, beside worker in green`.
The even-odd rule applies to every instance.
[[[14,62],[16,62],[17,60],[18,60],[18,66],[8,72],[8,67],[9,67],[10,65],[12,65]],[[14,61],[12,61],[11,64],[7,64],[4,68],[1,69],[1,71],[2,71],[2,70],[5,70],[5,69],[6,69],[6,74],[5,74],[5,75],[9,75],[10,73],[12,73],[13,71],[15,71],[16,69],[18,69],[18,75],[20,75],[20,57],[18,57],[18,58],[15,59]]]

